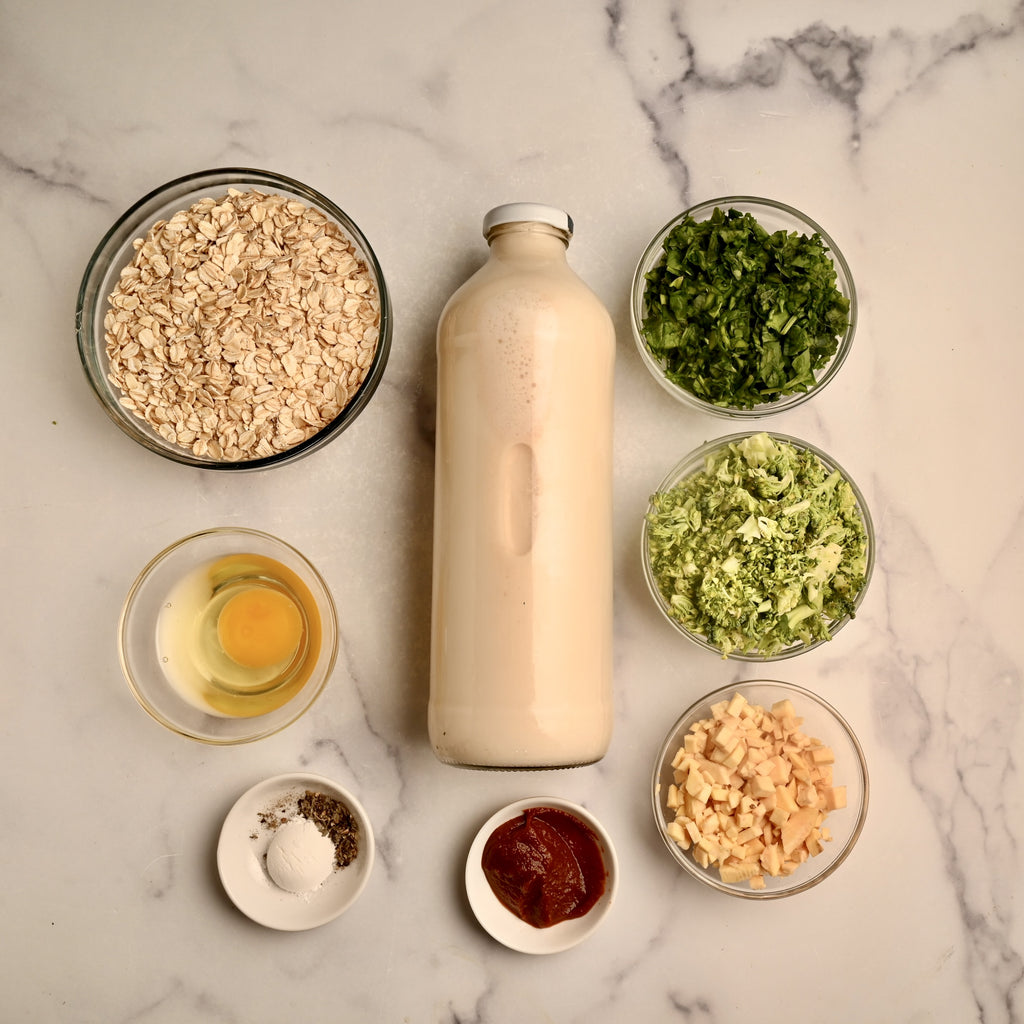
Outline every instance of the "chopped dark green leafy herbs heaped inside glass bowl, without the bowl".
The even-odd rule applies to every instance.
[[[817,232],[769,234],[753,214],[716,207],[708,220],[686,216],[663,248],[642,332],[669,380],[733,409],[814,386],[850,315]]]

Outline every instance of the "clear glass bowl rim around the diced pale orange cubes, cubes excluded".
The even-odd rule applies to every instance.
[[[863,798],[860,801],[859,806],[856,808],[857,817],[853,824],[853,828],[850,833],[849,838],[842,850],[824,866],[813,870],[807,878],[803,881],[797,881],[792,886],[785,889],[751,889],[750,887],[743,888],[740,883],[735,885],[729,885],[728,883],[722,882],[711,868],[703,868],[693,858],[689,855],[688,851],[682,850],[666,831],[666,821],[665,813],[662,809],[659,803],[660,796],[660,784],[662,784],[662,772],[666,766],[666,759],[669,756],[669,749],[673,745],[675,739],[679,737],[681,731],[686,727],[688,722],[692,722],[697,718],[697,712],[708,706],[718,702],[719,700],[726,700],[732,696],[733,693],[742,693],[744,687],[752,686],[768,686],[768,687],[778,687],[780,696],[778,699],[783,699],[781,694],[787,695],[792,698],[797,698],[800,701],[809,701],[815,705],[825,716],[831,719],[838,726],[840,732],[846,736],[849,740],[850,745],[856,755],[854,762],[854,771],[859,773],[860,780],[862,782]],[[799,713],[800,709],[797,708]],[[676,749],[678,750],[678,746]],[[673,723],[672,727],[666,732],[665,738],[658,748],[658,755],[654,761],[654,768],[651,773],[651,808],[654,813],[654,822],[657,827],[657,831],[662,837],[662,841],[668,847],[669,852],[672,854],[673,859],[691,877],[701,882],[711,889],[715,889],[718,892],[725,893],[728,896],[735,896],[739,899],[751,899],[751,900],[772,900],[772,899],[782,899],[786,896],[796,896],[799,893],[806,892],[808,889],[812,889],[818,883],[823,882],[830,874],[834,874],[839,866],[846,861],[846,859],[853,852],[853,848],[857,845],[857,841],[860,839],[861,834],[864,830],[864,824],[867,820],[867,806],[870,802],[870,775],[867,770],[867,759],[864,756],[863,746],[860,740],[857,738],[857,734],[854,732],[853,727],[843,716],[843,714],[828,700],[812,690],[807,689],[804,686],[800,686],[797,683],[786,682],[782,679],[741,679],[737,682],[728,683],[724,686],[719,686],[714,690],[710,690],[703,696],[694,700]],[[814,860],[811,858],[802,867],[806,867],[810,864],[814,866]],[[793,877],[791,877],[793,878]]]

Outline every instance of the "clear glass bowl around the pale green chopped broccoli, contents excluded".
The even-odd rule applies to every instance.
[[[733,444],[737,441],[742,440],[745,437],[753,436],[756,433],[761,433],[762,431],[743,431],[736,434],[728,434],[724,437],[719,437],[715,440],[708,441],[706,444],[701,444],[700,447],[694,449],[689,455],[683,458],[675,467],[669,472],[664,480],[657,485],[655,492],[671,490],[674,486],[681,483],[683,480],[694,476],[697,473],[701,473],[705,470],[705,460],[708,456],[727,447],[729,444]],[[867,509],[867,503],[864,500],[863,494],[861,494],[860,488],[857,486],[856,482],[851,478],[850,474],[843,469],[842,466],[836,462],[831,456],[826,455],[819,447],[811,444],[809,441],[801,440],[798,437],[792,437],[788,434],[777,433],[776,431],[763,431],[768,433],[769,436],[774,438],[776,441],[791,444],[798,451],[808,451],[817,457],[824,468],[831,472],[837,471],[840,475],[850,484],[850,488],[853,490],[854,497],[857,502],[857,511],[860,514],[860,518],[864,524],[864,534],[867,541],[867,563],[864,568],[864,585],[861,587],[856,600],[854,602],[854,610],[858,608],[864,599],[864,594],[867,592],[868,584],[871,581],[871,573],[874,568],[874,526],[871,521],[870,513]],[[657,579],[654,574],[653,567],[650,563],[650,549],[649,549],[649,534],[650,534],[650,523],[647,520],[647,515],[653,511],[653,506],[648,502],[646,514],[643,519],[643,527],[641,529],[640,536],[640,546],[641,546],[641,559],[643,561],[644,579],[647,582],[647,589],[650,591],[651,597],[654,599],[654,603],[660,609],[665,617],[672,624],[672,626],[678,630],[683,636],[688,640],[691,640],[698,647],[702,647],[705,650],[713,651],[720,657],[723,656],[722,650],[714,643],[712,643],[706,636],[695,633],[690,629],[687,629],[678,618],[676,618],[670,611],[669,602],[666,600],[665,595],[662,593],[660,588],[657,585]],[[828,623],[828,630],[833,637],[840,632],[852,618],[852,615],[845,615],[840,620],[831,621]],[[788,647],[783,647],[781,650],[777,650],[771,654],[759,653],[756,650],[753,651],[730,651],[728,657],[736,662],[780,662],[787,657],[794,657],[797,654],[802,654],[806,651],[813,650],[815,647],[821,646],[821,644],[828,643],[827,639],[815,640],[812,643],[795,643],[791,644]]]

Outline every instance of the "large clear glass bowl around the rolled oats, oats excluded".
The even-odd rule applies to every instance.
[[[295,199],[333,220],[351,241],[356,256],[366,264],[380,300],[380,327],[373,361],[358,390],[341,413],[317,433],[284,452],[243,461],[196,455],[189,449],[165,439],[146,421],[125,409],[121,404],[121,390],[108,377],[110,359],[103,329],[110,295],[122,269],[134,258],[134,240],[144,237],[158,220],[170,219],[178,211],[187,210],[202,199],[219,199],[227,194],[228,188],[240,191],[259,189],[286,199]],[[373,397],[384,374],[391,348],[392,318],[391,300],[377,257],[366,237],[343,210],[308,185],[284,175],[228,167],[201,171],[169,181],[144,196],[118,218],[86,266],[78,294],[75,324],[79,354],[86,377],[106,415],[125,434],[148,451],[173,462],[201,469],[238,472],[294,462],[323,447],[350,426]]]

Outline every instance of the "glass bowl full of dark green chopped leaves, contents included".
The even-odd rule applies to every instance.
[[[853,276],[829,236],[783,203],[733,196],[669,221],[637,264],[637,349],[676,398],[717,416],[817,394],[853,343]]]

